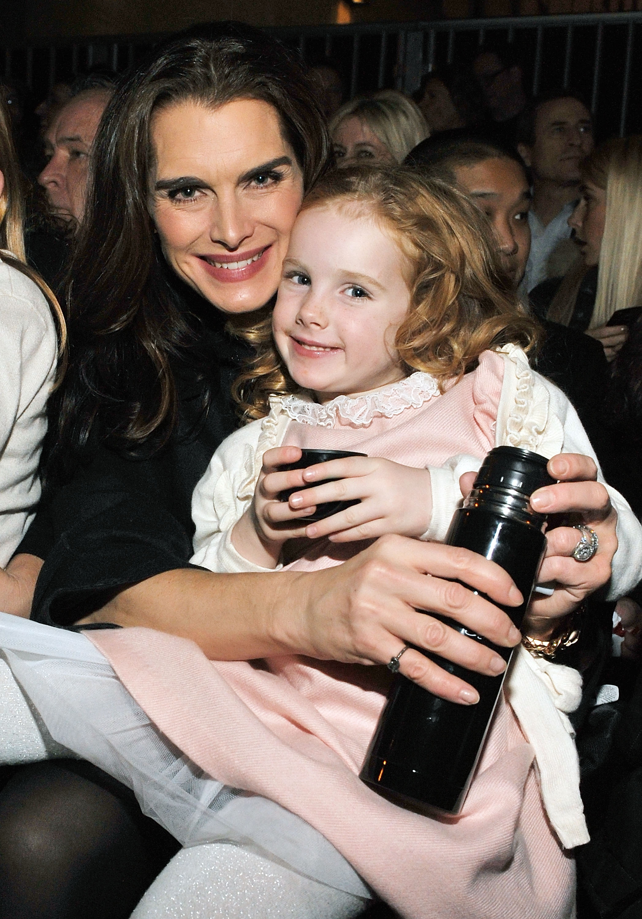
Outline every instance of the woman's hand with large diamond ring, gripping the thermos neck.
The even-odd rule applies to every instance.
[[[540,584],[553,583],[551,596],[534,593],[522,632],[531,638],[545,640],[556,629],[557,620],[567,616],[582,601],[606,584],[611,577],[611,562],[617,549],[615,512],[609,493],[597,482],[597,467],[590,457],[578,453],[560,453],[549,459],[548,472],[558,482],[533,492],[533,509],[547,514],[571,516],[573,523],[583,523],[595,531],[599,548],[589,562],[576,562],[573,550],[579,542],[579,530],[556,527],[546,531],[546,554],[539,573]],[[474,473],[462,476],[468,485]]]

